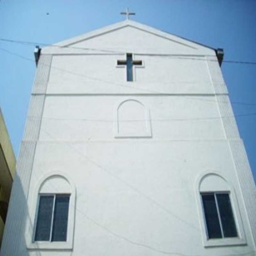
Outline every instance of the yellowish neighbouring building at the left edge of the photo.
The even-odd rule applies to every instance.
[[[0,108],[0,244],[8,210],[16,159]]]

